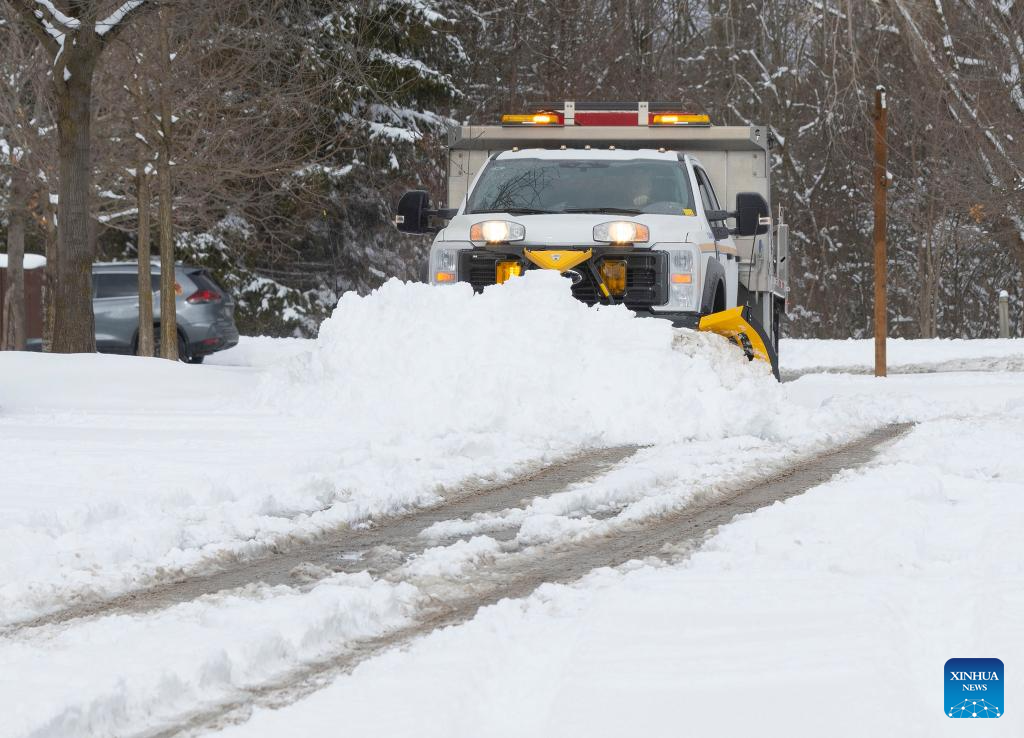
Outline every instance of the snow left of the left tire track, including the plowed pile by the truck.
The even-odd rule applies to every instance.
[[[584,447],[739,435],[792,453],[855,430],[786,408],[725,341],[674,346],[667,323],[587,308],[556,274],[464,287],[346,295],[311,350],[265,370],[0,355],[0,444],[19,461],[0,489],[0,617]],[[641,376],[658,391],[630,390]]]

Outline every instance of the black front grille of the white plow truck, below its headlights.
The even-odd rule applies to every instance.
[[[600,264],[604,256],[595,256],[596,264]],[[663,305],[668,300],[669,292],[669,255],[664,251],[642,251],[615,253],[607,258],[626,262],[626,293],[615,298],[616,303],[623,303],[632,309]],[[476,292],[495,284],[495,267],[499,261],[519,259],[525,269],[536,269],[534,264],[525,259],[508,254],[496,254],[492,251],[466,250],[459,254],[459,278],[468,281]],[[588,305],[600,302],[600,292],[597,283],[590,274],[587,264],[581,264],[574,269],[583,275],[578,285],[572,286],[572,297]]]

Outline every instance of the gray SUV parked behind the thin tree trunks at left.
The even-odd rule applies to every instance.
[[[153,279],[153,321],[160,346],[160,266],[150,268]],[[206,269],[174,267],[178,315],[178,356],[202,363],[215,351],[239,343],[234,301]],[[136,353],[138,341],[138,264],[116,262],[92,267],[92,310],[96,315],[96,349],[104,353]]]

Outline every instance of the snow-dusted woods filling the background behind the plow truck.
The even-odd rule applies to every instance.
[[[787,333],[869,335],[880,82],[891,102],[893,335],[991,335],[994,292],[1024,297],[1022,0],[174,8],[170,116],[159,111],[156,13],[135,18],[95,75],[92,222],[104,257],[140,252],[150,180],[136,175],[141,160],[159,161],[161,123],[173,122],[176,256],[232,290],[243,332],[311,334],[341,292],[419,276],[427,242],[394,232],[390,209],[410,186],[443,191],[451,122],[494,122],[537,100],[667,98],[716,124],[771,126],[776,215],[791,226]],[[0,63],[10,53],[0,46]],[[131,75],[141,89],[126,99]],[[42,192],[53,179],[30,186],[30,250],[53,231]],[[0,188],[4,210],[8,196]]]

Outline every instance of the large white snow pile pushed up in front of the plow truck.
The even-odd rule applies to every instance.
[[[781,435],[782,393],[767,364],[721,338],[678,333],[622,306],[587,307],[551,271],[482,295],[392,280],[342,298],[316,348],[265,389],[289,411],[404,437]]]

